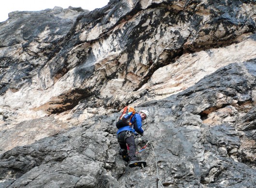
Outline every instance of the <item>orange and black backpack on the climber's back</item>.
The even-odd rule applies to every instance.
[[[116,128],[121,128],[124,126],[131,126],[130,119],[136,113],[135,109],[131,106],[126,106],[123,113],[116,121]]]

